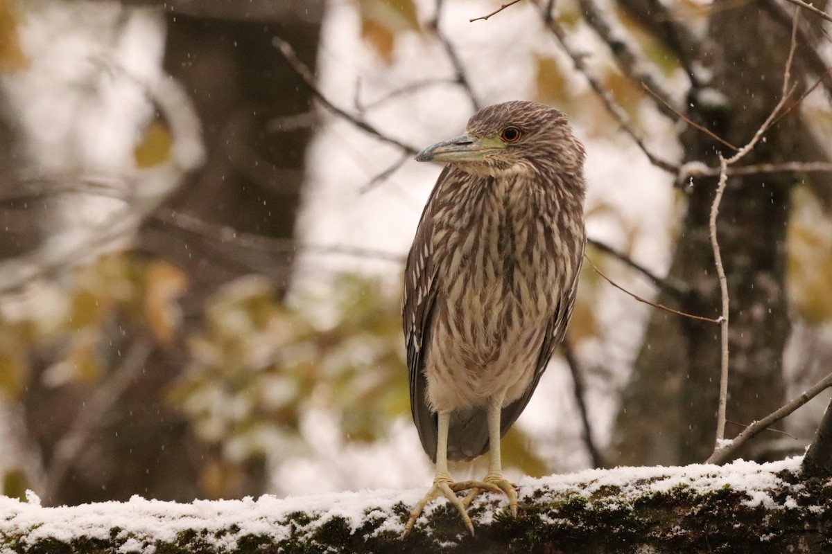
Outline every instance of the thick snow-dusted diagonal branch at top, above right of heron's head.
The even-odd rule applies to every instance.
[[[598,37],[607,43],[607,47],[612,51],[612,56],[618,61],[618,66],[629,77],[630,81],[640,83],[641,86],[651,91],[658,101],[656,107],[659,111],[674,119],[678,110],[671,105],[671,94],[664,90],[661,83],[656,80],[656,76],[644,69],[649,66],[649,63],[637,53],[635,48],[631,47],[629,42],[622,38],[622,31],[613,27],[610,19],[604,15],[604,11],[597,6],[594,0],[578,0],[578,5],[581,7],[584,19]]]

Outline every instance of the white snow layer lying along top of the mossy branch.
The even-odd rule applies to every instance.
[[[522,478],[518,482],[518,496],[523,502],[524,498],[542,490],[545,502],[547,497],[562,498],[572,494],[588,498],[601,488],[616,487],[621,493],[610,498],[610,506],[626,509],[628,498],[666,492],[679,486],[691,488],[696,493],[713,492],[728,486],[747,494],[750,506],[788,509],[797,507],[795,498],[790,496],[782,504],[775,503],[772,498],[775,489],[789,486],[776,473],[799,473],[800,461],[798,457],[763,464],[738,460],[726,466],[695,464],[679,468],[591,469],[541,479]],[[799,486],[793,488],[795,494],[799,493]],[[241,537],[254,535],[285,540],[292,533],[295,536],[311,534],[335,517],[343,518],[351,532],[368,519],[374,519],[378,526],[375,534],[388,531],[398,534],[404,530],[404,524],[394,507],[399,503],[413,506],[426,490],[384,488],[285,499],[263,496],[256,500],[197,500],[190,504],[133,497],[126,503],[93,503],[77,507],[41,507],[37,497],[30,493],[27,502],[0,497],[0,536],[13,536],[24,531],[25,547],[47,537],[62,542],[79,536],[108,539],[111,529],[118,528],[118,537],[124,540],[118,552],[152,554],[156,542],[174,542],[179,533],[189,530],[204,530],[203,540],[212,542],[219,550],[234,550]],[[495,500],[498,500],[497,495],[487,493],[475,502],[494,503]],[[500,497],[498,504],[504,507],[504,501],[505,498]],[[420,522],[426,521],[441,504],[430,503]],[[587,507],[591,508],[592,503]],[[817,512],[822,508],[809,509]],[[293,527],[289,521],[293,512],[305,512],[313,521],[305,526],[295,522]],[[545,523],[563,522],[551,514],[540,517]],[[479,513],[477,520],[480,526],[493,522],[493,510]]]

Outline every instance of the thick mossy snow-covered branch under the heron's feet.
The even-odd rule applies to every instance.
[[[476,537],[437,504],[401,541],[420,493],[77,507],[0,497],[0,551],[765,553],[819,552],[832,541],[832,484],[801,479],[800,458],[523,478],[520,517],[486,494],[470,510]]]

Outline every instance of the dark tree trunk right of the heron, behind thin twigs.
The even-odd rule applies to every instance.
[[[711,71],[706,88],[691,91],[687,115],[732,145],[745,145],[782,96],[790,22],[756,4],[718,0],[698,62]],[[752,46],[753,45],[753,46]],[[795,60],[791,75],[802,82]],[[795,94],[800,95],[800,90]],[[780,120],[742,164],[800,159],[806,130],[797,110]],[[700,131],[681,133],[685,161],[718,165],[716,151],[732,150]],[[782,353],[790,330],[785,297],[785,238],[790,184],[783,175],[728,179],[717,223],[730,293],[730,384],[727,417],[749,424],[782,404]],[[668,277],[686,282],[680,299],[658,302],[717,317],[721,293],[711,250],[708,218],[716,179],[694,179]],[[720,379],[719,326],[654,311],[622,399],[612,448],[614,463],[673,464],[707,458],[714,447]],[[729,424],[726,438],[741,429]],[[745,457],[765,458],[765,449]]]

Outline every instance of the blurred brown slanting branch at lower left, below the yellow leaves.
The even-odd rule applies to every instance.
[[[102,426],[106,414],[121,401],[127,388],[141,374],[152,349],[150,339],[137,339],[127,351],[121,365],[95,390],[78,412],[72,426],[57,442],[52,454],[44,488],[46,498],[55,498],[58,488],[72,468],[72,463],[76,462],[78,455],[92,439],[92,435]]]

